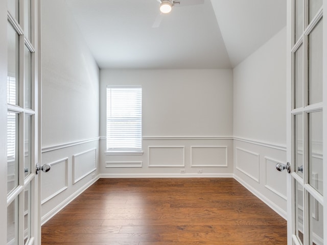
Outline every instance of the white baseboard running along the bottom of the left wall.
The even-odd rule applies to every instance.
[[[46,213],[41,217],[41,226],[43,226],[48,220],[50,220],[53,216],[59,213],[64,207],[66,207],[69,203],[71,203],[75,198],[77,198],[80,194],[83,193],[88,187],[94,184],[97,180],[100,179],[100,176],[96,176],[94,179],[87,182],[84,186],[79,188],[75,193],[73,193],[70,197],[66,198],[62,201],[59,205],[57,205],[54,209],[50,212]]]

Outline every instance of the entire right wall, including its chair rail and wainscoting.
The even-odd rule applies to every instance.
[[[286,28],[233,69],[234,174],[286,217]]]

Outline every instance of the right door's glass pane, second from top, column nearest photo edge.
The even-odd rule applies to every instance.
[[[308,36],[309,105],[322,102],[322,19]]]

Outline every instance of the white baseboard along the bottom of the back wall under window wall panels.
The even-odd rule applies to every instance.
[[[100,178],[233,178],[233,174],[101,174]]]

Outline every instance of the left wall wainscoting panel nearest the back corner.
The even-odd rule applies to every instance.
[[[97,169],[96,155],[97,149],[73,155],[73,184]]]

